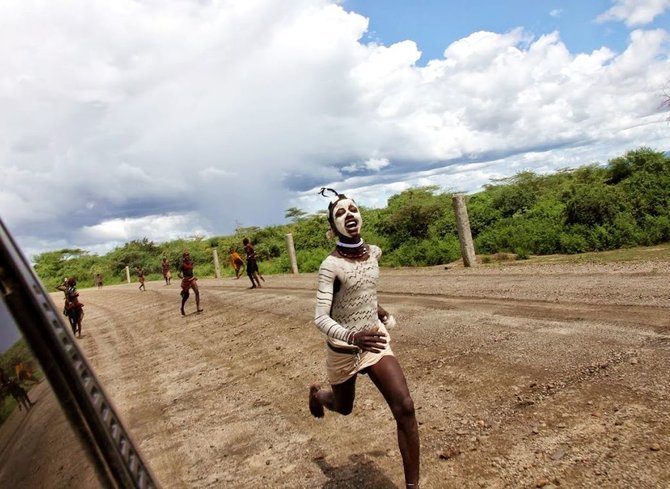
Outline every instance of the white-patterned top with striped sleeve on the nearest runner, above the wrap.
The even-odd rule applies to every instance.
[[[377,280],[382,250],[370,245],[367,260],[329,255],[319,268],[314,324],[329,338],[346,341],[350,331],[377,324]],[[335,292],[335,281],[339,289]]]

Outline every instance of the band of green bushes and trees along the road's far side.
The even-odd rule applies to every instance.
[[[382,209],[363,209],[365,236],[384,250],[382,266],[434,266],[460,257],[453,194],[438,187],[411,188],[392,196]],[[570,255],[589,259],[593,252],[654,247],[670,243],[670,157],[650,148],[639,148],[610,160],[606,165],[587,164],[549,175],[522,171],[496,180],[466,197],[475,251],[482,263]],[[134,240],[106,255],[79,249],[42,253],[33,258],[47,288],[54,290],[64,277],[74,276],[80,287],[93,285],[96,273],[105,284],[126,280],[143,266],[147,280],[161,278],[161,259],[169,258],[176,275],[179,258],[188,249],[201,277],[214,276],[212,251],[217,250],[221,273],[228,250],[242,255],[241,241],[255,245],[263,274],[286,273],[290,262],[285,235],[293,234],[298,267],[318,269],[332,250],[326,238],[324,213],[286,211],[288,223],[266,228],[239,228],[233,235],[193,237],[165,243],[146,238]],[[662,246],[661,254],[669,248]],[[616,258],[615,258],[616,259]]]

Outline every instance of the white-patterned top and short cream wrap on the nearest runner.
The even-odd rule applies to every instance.
[[[339,384],[385,355],[393,355],[390,337],[377,315],[378,246],[370,245],[367,260],[346,260],[329,255],[319,268],[314,324],[339,348],[351,348],[347,338],[351,331],[358,332],[378,326],[386,336],[386,348],[381,353],[337,353],[328,350],[326,367],[331,384]],[[339,289],[335,292],[335,282]]]

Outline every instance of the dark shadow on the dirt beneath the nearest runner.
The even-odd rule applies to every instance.
[[[351,462],[346,465],[333,467],[323,457],[314,459],[323,475],[328,477],[322,489],[397,489],[397,486],[365,454],[350,455],[349,460]]]

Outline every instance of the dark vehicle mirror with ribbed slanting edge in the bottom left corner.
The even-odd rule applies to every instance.
[[[0,369],[0,487],[159,487],[1,220]]]

